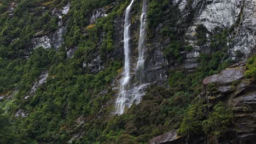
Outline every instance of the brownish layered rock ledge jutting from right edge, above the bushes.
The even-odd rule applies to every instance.
[[[256,82],[245,79],[245,63],[231,65],[220,74],[203,80],[206,97],[210,105],[226,102],[235,114],[235,136],[237,143],[256,141]]]

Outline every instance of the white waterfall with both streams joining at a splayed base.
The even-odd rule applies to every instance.
[[[125,51],[125,67],[123,79],[121,80],[121,88],[118,99],[115,103],[115,114],[123,114],[125,107],[131,107],[132,103],[138,104],[141,97],[144,95],[144,89],[149,83],[144,82],[144,52],[145,52],[145,37],[146,37],[146,19],[147,19],[147,0],[143,1],[141,26],[139,31],[138,43],[138,61],[135,69],[135,80],[130,83],[130,10],[134,0],[127,7],[125,12],[125,25],[124,25],[124,51]],[[131,85],[132,84],[132,85]]]

